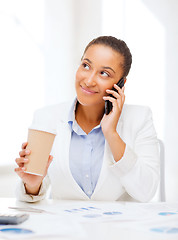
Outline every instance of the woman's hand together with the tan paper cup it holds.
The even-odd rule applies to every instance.
[[[55,134],[29,129],[28,142],[22,144],[16,158],[16,173],[25,184],[27,193],[38,194],[53,157],[50,154]]]

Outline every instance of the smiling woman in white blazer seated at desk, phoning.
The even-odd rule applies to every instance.
[[[57,136],[43,177],[24,172],[30,151],[22,145],[15,169],[22,180],[19,200],[43,199],[50,184],[57,199],[146,202],[154,196],[159,153],[151,111],[124,105],[125,87],[116,85],[122,78],[126,83],[131,63],[122,40],[102,36],[88,44],[76,73],[75,101],[35,113],[32,126]],[[105,101],[113,106],[109,114]]]

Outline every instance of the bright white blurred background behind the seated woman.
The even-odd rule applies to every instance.
[[[177,12],[175,0],[0,0],[0,196],[14,196],[14,160],[33,112],[73,97],[85,46],[113,35],[133,55],[126,103],[152,109],[166,198],[178,200]]]

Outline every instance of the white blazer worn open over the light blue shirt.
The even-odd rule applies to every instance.
[[[124,105],[117,131],[126,143],[125,153],[117,163],[105,143],[103,164],[96,188],[89,198],[74,180],[69,167],[71,131],[68,114],[71,102],[37,110],[31,128],[56,133],[53,161],[38,196],[27,195],[23,183],[17,187],[19,200],[34,202],[45,198],[51,185],[54,199],[126,200],[147,202],[159,182],[159,145],[148,107]]]

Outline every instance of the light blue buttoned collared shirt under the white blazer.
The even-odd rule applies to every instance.
[[[105,138],[100,125],[87,135],[75,120],[75,108],[76,102],[68,118],[71,129],[69,165],[73,178],[90,198],[100,175]]]

